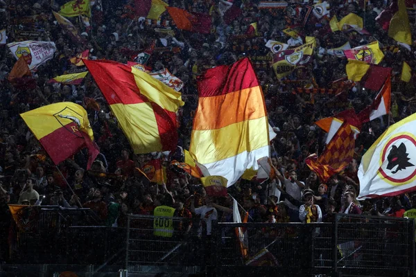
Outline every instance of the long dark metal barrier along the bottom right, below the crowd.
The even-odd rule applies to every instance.
[[[337,214],[333,223],[220,222],[215,236],[218,274],[415,274],[414,222],[404,218]]]

